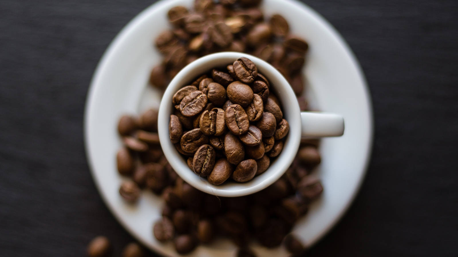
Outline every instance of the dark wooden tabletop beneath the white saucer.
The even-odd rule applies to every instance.
[[[119,30],[152,1],[0,1],[0,255],[84,256],[132,237],[83,148],[87,88]],[[458,1],[309,0],[342,33],[375,114],[361,191],[310,256],[458,255]]]

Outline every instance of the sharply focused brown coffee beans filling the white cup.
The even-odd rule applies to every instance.
[[[256,65],[241,57],[190,82],[174,94],[169,123],[170,140],[189,168],[214,185],[266,171],[289,124]]]

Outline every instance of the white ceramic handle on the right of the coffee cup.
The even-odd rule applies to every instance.
[[[344,134],[344,117],[327,112],[300,112],[302,137],[337,137]]]

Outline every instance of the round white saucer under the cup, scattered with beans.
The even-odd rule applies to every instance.
[[[149,72],[161,60],[153,39],[169,27],[167,11],[175,5],[190,7],[192,0],[162,0],[148,7],[113,40],[95,71],[87,97],[84,131],[87,158],[99,192],[120,223],[139,241],[166,256],[177,256],[171,243],[160,243],[152,232],[163,201],[145,192],[135,206],[122,201],[122,177],[116,171],[121,145],[116,124],[122,113],[138,114],[158,107],[160,94],[147,86]],[[269,16],[283,15],[291,31],[305,38],[310,53],[304,69],[308,96],[317,109],[344,116],[345,134],[323,139],[322,164],[317,172],[324,192],[294,233],[311,246],[340,219],[358,192],[371,152],[372,111],[365,79],[342,37],[310,7],[293,0],[263,0]],[[253,246],[258,256],[287,256],[283,247]],[[198,246],[189,256],[234,256],[235,247],[219,240]]]

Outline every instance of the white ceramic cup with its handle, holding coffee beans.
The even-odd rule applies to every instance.
[[[189,85],[191,80],[198,75],[207,73],[215,67],[225,67],[232,64],[242,56],[251,59],[256,64],[258,72],[269,80],[269,90],[275,93],[282,104],[283,117],[289,123],[289,133],[282,152],[262,174],[248,182],[227,181],[216,186],[207,182],[206,177],[199,177],[194,171],[191,171],[186,160],[170,141],[169,121],[170,115],[174,112],[172,98],[176,91]],[[301,112],[297,98],[288,81],[272,65],[250,54],[221,52],[196,59],[183,68],[170,82],[159,106],[158,133],[165,157],[183,180],[205,193],[224,197],[238,197],[256,193],[278,180],[291,165],[302,137],[316,138],[344,134],[344,119],[333,113]]]

